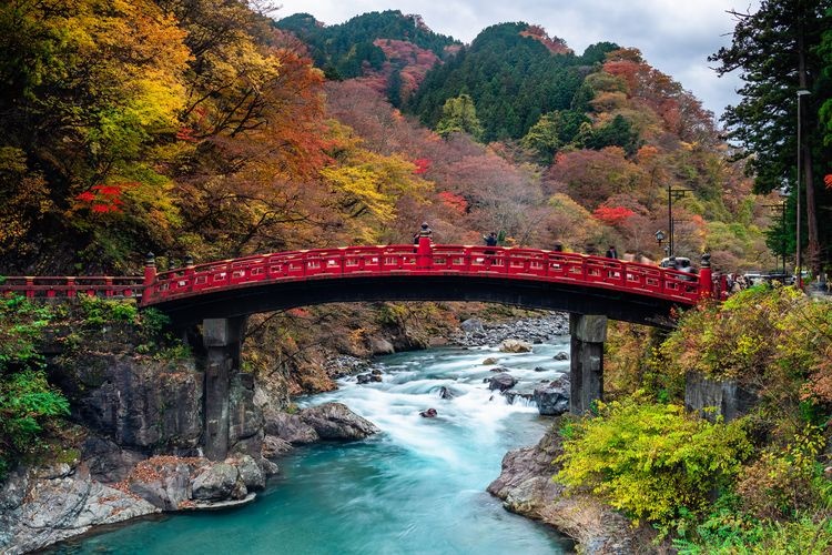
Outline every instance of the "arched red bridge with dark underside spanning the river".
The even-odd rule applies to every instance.
[[[707,261],[706,261],[707,262]],[[291,251],[189,264],[143,278],[7,278],[29,297],[140,297],[174,324],[345,301],[485,301],[670,325],[672,306],[711,296],[699,276],[653,265],[536,249],[433,244]]]

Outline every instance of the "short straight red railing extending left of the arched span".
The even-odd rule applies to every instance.
[[[130,299],[142,295],[140,276],[105,275],[10,276],[0,283],[0,295],[21,294],[27,299],[74,299],[79,295]]]

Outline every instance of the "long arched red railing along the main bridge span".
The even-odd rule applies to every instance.
[[[156,274],[142,303],[266,281],[399,273],[504,275],[646,293],[684,304],[701,296],[696,275],[648,264],[536,249],[407,244],[290,251],[176,269]]]

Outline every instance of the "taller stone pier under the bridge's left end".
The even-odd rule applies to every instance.
[[[222,461],[229,454],[230,389],[240,372],[245,316],[206,319],[202,322],[205,346],[205,406],[203,444],[205,456]]]

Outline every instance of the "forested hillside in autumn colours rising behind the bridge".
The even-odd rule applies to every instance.
[[[442,242],[658,259],[668,185],[690,191],[678,254],[773,265],[711,114],[635,49],[576,56],[526,23],[460,48],[395,11],[275,27],[220,0],[13,2],[0,26],[7,273],[403,242],[425,219]]]

